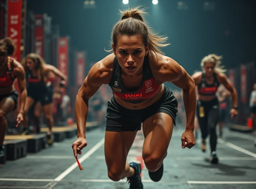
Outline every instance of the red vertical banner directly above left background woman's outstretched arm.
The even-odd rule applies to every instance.
[[[68,37],[59,37],[58,55],[58,69],[68,77]]]

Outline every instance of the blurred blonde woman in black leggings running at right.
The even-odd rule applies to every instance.
[[[202,132],[202,151],[205,152],[205,139],[210,134],[210,146],[212,163],[218,163],[216,154],[217,135],[216,125],[220,117],[220,104],[216,92],[220,84],[230,91],[233,100],[233,108],[230,110],[231,118],[237,115],[237,94],[236,89],[228,81],[225,70],[220,66],[221,57],[210,54],[201,61],[203,72],[196,72],[192,75],[198,87],[197,118]]]

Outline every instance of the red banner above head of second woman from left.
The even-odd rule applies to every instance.
[[[35,15],[35,53],[44,57],[44,16]]]

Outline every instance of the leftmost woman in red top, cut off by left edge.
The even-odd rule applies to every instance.
[[[27,98],[25,71],[22,65],[12,58],[15,50],[10,38],[0,40],[0,157],[4,156],[4,135],[7,129],[6,116],[17,108],[19,93],[14,87],[17,78],[20,89],[20,111],[17,125],[23,121],[24,106]]]

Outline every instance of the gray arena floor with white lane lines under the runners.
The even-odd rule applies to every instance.
[[[144,189],[255,189],[256,188],[256,138],[251,134],[224,129],[225,140],[219,140],[217,154],[220,162],[209,163],[209,145],[201,152],[201,141],[191,149],[181,148],[184,128],[174,129],[168,155],[164,160],[164,176],[154,183],[144,166]],[[0,188],[26,189],[128,189],[126,180],[113,182],[108,178],[104,159],[104,131],[97,129],[86,133],[88,146],[79,156],[84,170],[79,170],[71,148],[76,140],[66,139],[54,143],[36,154],[0,167]],[[200,136],[200,135],[199,135]],[[137,135],[128,161],[141,159],[144,137]],[[209,143],[209,142],[208,142]]]

